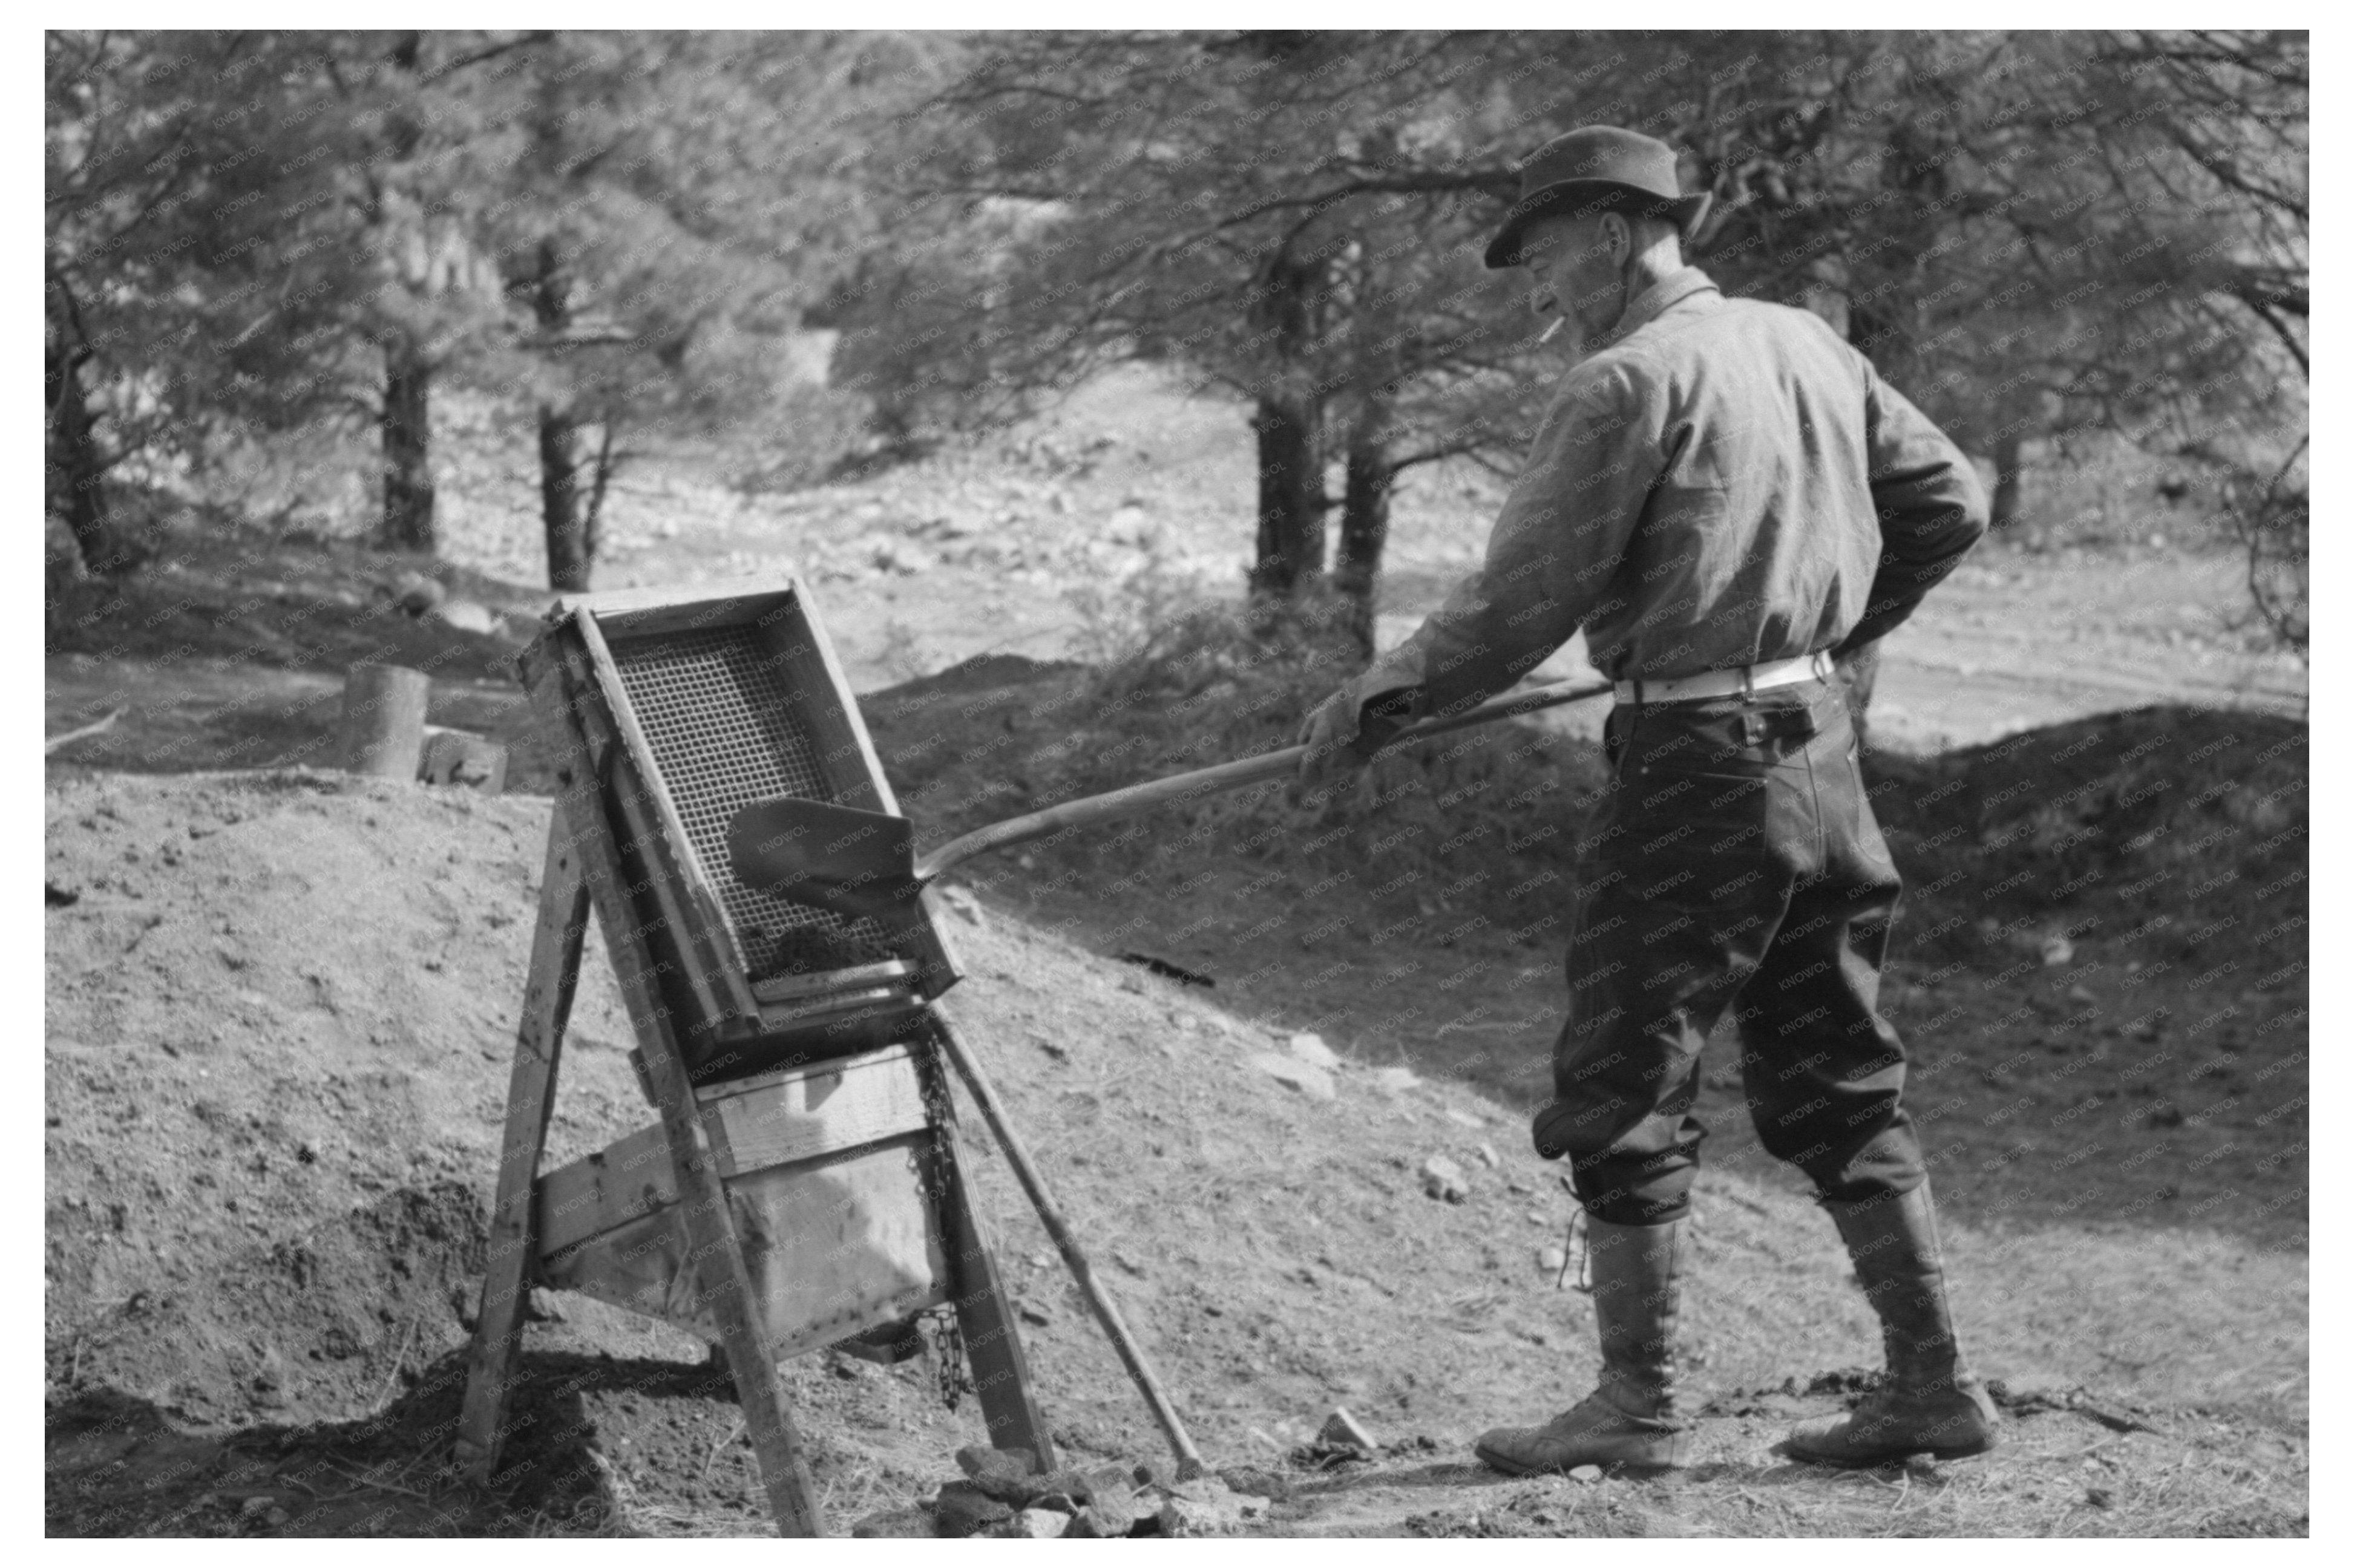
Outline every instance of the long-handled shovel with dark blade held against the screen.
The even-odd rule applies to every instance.
[[[1419,725],[1408,725],[1382,751],[1448,735],[1450,730],[1495,723],[1497,718],[1537,713],[1563,702],[1601,697],[1608,690],[1608,680],[1537,685],[1509,697],[1495,697],[1452,718],[1427,718]],[[1283,751],[1250,756],[1241,763],[1219,763],[1217,768],[1177,772],[1149,784],[1130,784],[1106,796],[1064,800],[1062,805],[993,822],[963,838],[951,838],[920,859],[916,857],[916,829],[906,817],[833,805],[829,800],[777,796],[753,800],[734,815],[727,824],[727,857],[734,862],[734,873],[746,888],[831,909],[852,921],[876,916],[890,923],[906,916],[916,895],[932,878],[984,850],[1003,850],[1059,833],[1062,829],[1135,817],[1158,805],[1198,800],[1226,789],[1281,779],[1299,768],[1302,756],[1306,756],[1306,746],[1285,746]]]

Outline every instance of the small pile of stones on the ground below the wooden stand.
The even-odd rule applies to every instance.
[[[1168,1462],[1040,1471],[1026,1448],[958,1448],[956,1467],[965,1476],[942,1486],[932,1502],[871,1514],[850,1533],[1010,1540],[1231,1535],[1285,1490],[1281,1476],[1266,1471],[1179,1479]]]

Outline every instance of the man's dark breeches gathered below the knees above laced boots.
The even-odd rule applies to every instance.
[[[1690,1205],[1700,1048],[1733,1010],[1758,1140],[1824,1198],[1909,1191],[1904,1045],[1878,1015],[1902,883],[1838,685],[1612,709],[1580,852],[1570,1015],[1537,1151],[1612,1224]]]

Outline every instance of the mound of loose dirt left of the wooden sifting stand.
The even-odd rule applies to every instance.
[[[47,1361],[191,1422],[346,1420],[459,1337],[546,805],[325,772],[47,800]],[[556,1140],[640,1121],[584,986]]]

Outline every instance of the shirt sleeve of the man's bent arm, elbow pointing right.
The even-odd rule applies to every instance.
[[[1881,565],[1871,574],[1864,619],[1841,640],[1841,655],[1902,626],[1987,534],[1987,487],[1970,459],[1904,393],[1881,381],[1869,360],[1862,365]]]

